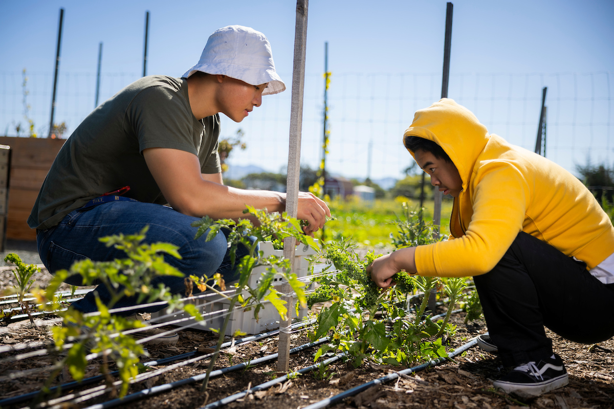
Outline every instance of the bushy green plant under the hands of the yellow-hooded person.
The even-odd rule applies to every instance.
[[[403,203],[403,219],[397,219],[398,232],[391,234],[396,248],[424,245],[436,242],[437,227],[411,211]],[[422,296],[419,307],[413,313],[408,308],[410,292],[414,288],[429,294],[432,288],[448,292],[449,312],[464,287],[464,279],[451,278],[442,281],[437,277],[410,276],[401,271],[394,276],[397,285],[389,291],[381,291],[371,281],[366,267],[376,258],[373,252],[364,259],[356,254],[356,244],[349,240],[329,242],[321,252],[330,266],[314,281],[319,288],[308,296],[308,305],[332,301],[323,307],[317,316],[316,330],[311,338],[316,339],[331,329],[331,341],[316,353],[316,360],[329,351],[347,351],[354,365],[366,359],[390,365],[409,364],[422,359],[431,359],[445,354],[440,335],[452,334],[448,326],[449,315],[440,324],[424,317],[429,297]]]

